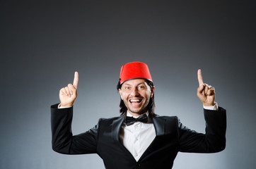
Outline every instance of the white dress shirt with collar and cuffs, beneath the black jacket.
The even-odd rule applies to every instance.
[[[58,108],[68,107],[63,107],[59,104]],[[204,109],[217,111],[218,104],[216,103],[214,106],[204,106]],[[149,113],[146,113],[146,115],[149,115]],[[139,118],[139,116],[132,116],[128,111],[127,116]],[[136,161],[139,161],[139,158],[141,158],[142,154],[144,154],[151,142],[153,142],[153,139],[155,139],[156,130],[150,119],[148,123],[135,122],[129,126],[123,123],[119,137],[124,147],[134,156]]]

